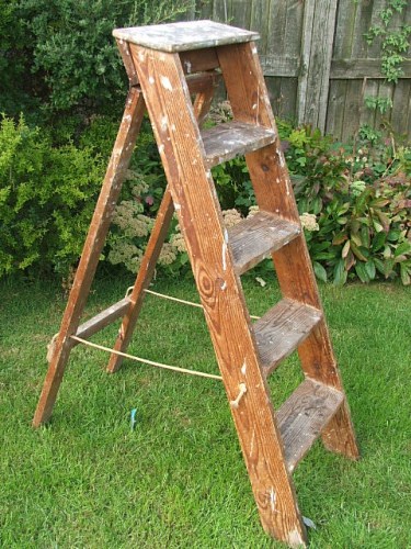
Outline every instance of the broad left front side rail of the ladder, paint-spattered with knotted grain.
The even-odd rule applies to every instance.
[[[266,531],[304,545],[306,530],[284,460],[266,382],[261,373],[241,283],[233,270],[213,178],[180,58],[133,44],[138,79],[189,249],[251,485]],[[190,181],[195,184],[190,184]],[[189,184],[187,184],[189,182]]]

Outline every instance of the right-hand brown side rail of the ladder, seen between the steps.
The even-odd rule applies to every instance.
[[[269,94],[255,46],[236,44],[218,49],[219,61],[235,119],[272,126],[276,131]],[[250,70],[241,70],[243,64]],[[267,147],[246,155],[259,206],[299,223],[292,183],[281,149],[279,138]],[[274,188],[274,189],[273,189]],[[284,298],[322,311],[311,260],[304,234],[273,254]],[[324,321],[298,348],[307,378],[343,390]],[[358,449],[346,399],[323,429],[324,446],[346,457],[358,458]]]

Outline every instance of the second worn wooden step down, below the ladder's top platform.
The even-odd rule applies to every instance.
[[[228,229],[228,242],[238,274],[254,267],[272,251],[300,234],[296,223],[269,212],[258,212]]]

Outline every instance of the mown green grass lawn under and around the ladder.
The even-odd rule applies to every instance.
[[[102,281],[88,313],[129,281]],[[250,310],[278,298],[244,281]],[[190,281],[158,291],[196,300]],[[72,352],[49,426],[31,419],[45,348],[65,299],[57,285],[0,284],[0,546],[42,548],[281,547],[265,536],[218,381]],[[322,287],[362,460],[317,442],[294,478],[317,530],[312,548],[411,547],[411,303],[398,285]],[[116,326],[93,338],[111,346]],[[147,298],[130,347],[153,360],[217,372],[201,311]],[[281,403],[300,379],[296,358],[271,378]],[[137,408],[137,427],[129,428]]]

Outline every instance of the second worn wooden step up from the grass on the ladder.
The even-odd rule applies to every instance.
[[[253,325],[261,368],[269,376],[321,321],[318,309],[282,300]]]

